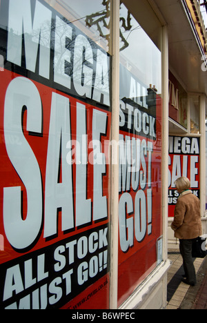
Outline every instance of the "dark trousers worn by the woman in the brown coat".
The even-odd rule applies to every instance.
[[[184,271],[185,271],[187,281],[190,283],[196,284],[195,267],[193,264],[193,257],[192,257],[192,244],[193,244],[193,239],[179,240],[179,250],[183,258]]]

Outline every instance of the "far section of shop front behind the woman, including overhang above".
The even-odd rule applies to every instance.
[[[190,189],[201,202],[203,235],[206,222],[206,29],[201,1],[181,1],[182,13],[175,28],[168,28],[168,246],[179,248],[170,228],[179,194],[175,179],[190,179]],[[175,6],[178,10],[178,6]],[[182,19],[181,19],[181,16]],[[165,16],[168,19],[168,16]],[[195,43],[192,41],[195,38]],[[182,41],[181,41],[182,39]],[[199,43],[199,46],[196,44]]]

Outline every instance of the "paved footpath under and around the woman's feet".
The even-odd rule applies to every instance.
[[[207,257],[195,258],[197,284],[189,286],[181,282],[184,275],[183,261],[179,250],[168,250],[172,266],[168,271],[168,304],[166,309],[207,309]]]

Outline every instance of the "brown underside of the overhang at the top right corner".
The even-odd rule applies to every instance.
[[[207,71],[201,69],[202,52],[181,0],[155,0],[168,26],[169,65],[175,77],[188,92],[203,92],[207,95]]]

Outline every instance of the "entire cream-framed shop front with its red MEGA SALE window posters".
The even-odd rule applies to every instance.
[[[169,72],[156,2],[0,1],[1,309],[166,306],[173,180],[204,186],[204,95]]]

